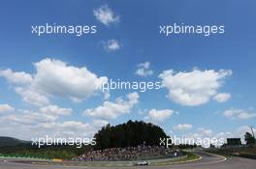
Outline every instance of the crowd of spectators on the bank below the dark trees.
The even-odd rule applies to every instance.
[[[76,158],[79,161],[118,161],[139,160],[157,157],[176,157],[178,151],[160,146],[138,146],[127,148],[110,148],[97,151],[88,151]]]

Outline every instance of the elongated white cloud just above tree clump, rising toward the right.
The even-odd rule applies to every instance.
[[[119,115],[130,113],[135,104],[139,102],[137,93],[127,95],[127,100],[116,99],[115,102],[104,101],[103,105],[96,108],[85,109],[83,114],[90,117],[103,119],[116,119]]]

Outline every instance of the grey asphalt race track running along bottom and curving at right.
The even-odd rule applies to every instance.
[[[179,163],[166,166],[133,166],[133,167],[89,167],[89,166],[49,166],[49,165],[35,165],[25,163],[15,163],[0,161],[0,169],[255,169],[256,160],[246,159],[241,157],[223,158],[216,155],[208,155],[206,153],[197,153],[202,158],[198,161]]]

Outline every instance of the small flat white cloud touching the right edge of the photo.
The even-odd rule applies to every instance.
[[[252,119],[256,118],[256,113],[251,113],[246,110],[242,109],[228,109],[224,111],[223,116],[230,118],[230,119],[240,119],[240,120],[247,120],[247,119]]]

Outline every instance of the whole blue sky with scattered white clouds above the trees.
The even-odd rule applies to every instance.
[[[107,25],[97,19],[94,13],[103,7],[112,13],[112,18],[107,18]],[[210,136],[219,133],[241,136],[248,129],[246,126],[256,125],[255,7],[256,2],[253,0],[217,0],[211,3],[203,0],[47,0],[40,4],[35,1],[1,2],[0,124],[3,127],[0,135],[30,139],[48,133],[48,127],[54,128],[52,133],[61,135],[67,134],[67,131],[76,135],[83,128],[82,134],[92,135],[101,126],[99,124],[108,122],[115,125],[132,119],[158,124],[171,135],[206,132]],[[95,25],[97,33],[82,37],[59,34],[38,37],[31,34],[31,25],[46,23]],[[165,37],[159,34],[159,25],[174,23],[225,25],[225,33],[209,37]],[[117,46],[110,48],[112,42],[116,42]],[[153,73],[144,76],[136,74],[142,63],[149,63],[149,67],[142,66],[141,69]],[[49,67],[54,71],[58,64],[62,65],[61,69],[71,73],[69,77],[78,78],[76,85],[81,91],[78,89],[74,94],[72,92],[75,89],[66,88],[65,85],[73,78],[61,84],[58,78],[67,76],[56,76],[57,70],[54,76],[50,73]],[[86,73],[80,76],[78,72],[83,72],[81,68],[86,68],[88,74],[93,73],[97,77],[86,81]],[[158,91],[111,91],[111,97],[104,99],[103,94],[98,94],[94,89],[89,91],[93,95],[89,95],[81,87],[89,88],[90,83],[100,80],[100,77],[109,80],[162,82],[164,80],[159,75],[165,70],[175,72],[163,77],[168,84]],[[195,77],[197,75],[199,78]],[[27,80],[24,80],[24,76]],[[170,81],[169,77],[175,77],[175,80]],[[208,80],[204,81],[204,78]],[[190,79],[191,84],[187,84]],[[193,90],[193,85],[200,87]],[[53,91],[52,86],[61,92]],[[189,101],[190,104],[197,97],[203,96],[207,100],[188,105],[180,100],[182,95],[174,95],[180,90],[184,95],[196,94]],[[133,92],[137,92],[139,98],[133,96],[131,98],[135,100],[127,99],[126,96]],[[71,99],[79,93],[79,102]],[[215,100],[218,94],[223,94],[219,96],[221,101]],[[108,118],[97,110],[99,106],[104,107],[106,101],[106,104],[109,102],[118,106],[115,100],[120,97],[120,106],[127,109],[107,109],[117,117]],[[35,104],[35,99],[41,103]],[[84,113],[89,109],[91,116]],[[26,115],[29,114],[33,118],[24,123],[23,118],[27,119]],[[156,122],[160,116],[165,118],[158,118]]]

